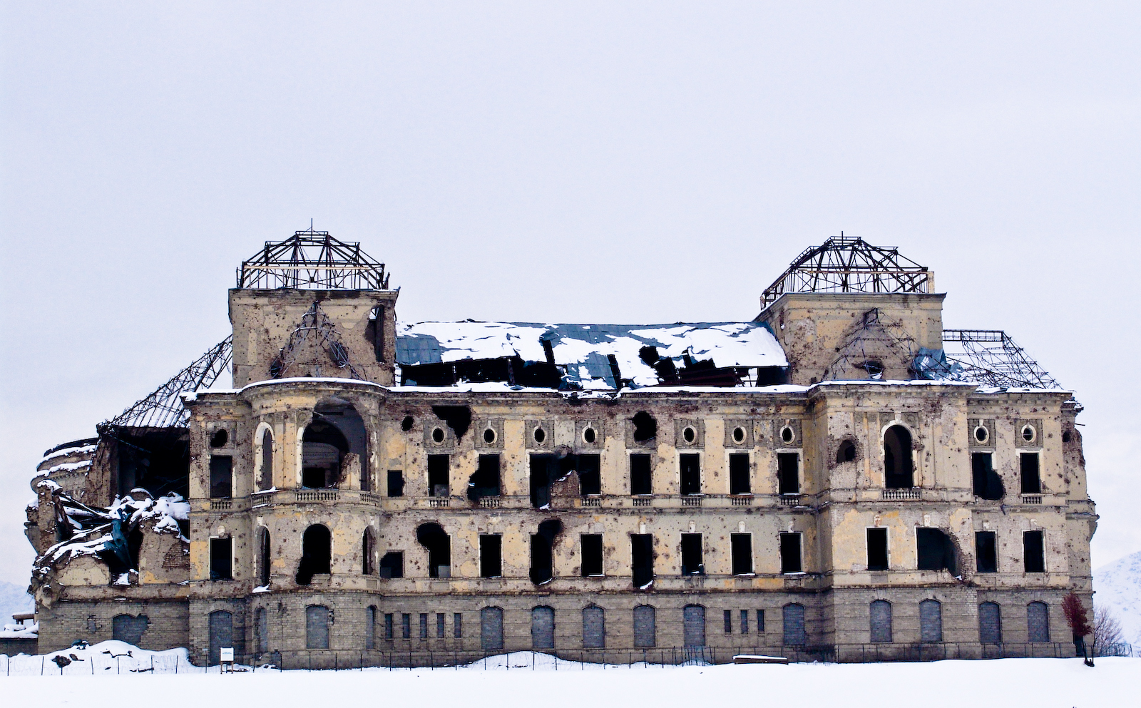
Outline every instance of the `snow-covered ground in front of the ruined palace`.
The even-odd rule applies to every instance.
[[[120,656],[116,660],[114,654]],[[111,653],[104,653],[111,652]],[[793,664],[721,666],[600,666],[513,653],[459,669],[365,669],[340,672],[248,670],[218,674],[191,669],[185,650],[145,652],[104,642],[75,653],[60,670],[46,657],[13,659],[0,691],[9,706],[67,703],[122,708],[129,697],[147,697],[163,708],[181,706],[322,706],[330,700],[361,705],[475,708],[542,705],[604,706],[782,705],[810,700],[844,708],[920,703],[924,708],[973,706],[1135,706],[1141,659],[997,659],[930,664]],[[155,670],[149,667],[154,661]],[[94,660],[94,664],[92,664]],[[173,667],[179,667],[178,675]],[[40,667],[43,666],[43,676]],[[534,668],[532,668],[534,666]],[[135,672],[132,672],[135,669]],[[141,673],[136,673],[143,669]],[[92,676],[92,673],[95,676]],[[588,677],[589,673],[589,677]],[[31,675],[30,675],[31,674]]]

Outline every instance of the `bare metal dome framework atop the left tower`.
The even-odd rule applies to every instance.
[[[329,231],[296,231],[282,242],[267,241],[261,252],[242,261],[240,288],[388,290],[385,263],[361,250],[359,242]]]

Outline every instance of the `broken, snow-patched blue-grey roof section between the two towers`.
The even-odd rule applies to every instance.
[[[552,325],[424,322],[397,327],[403,385],[503,381],[558,389],[783,383],[784,350],[760,323]]]

